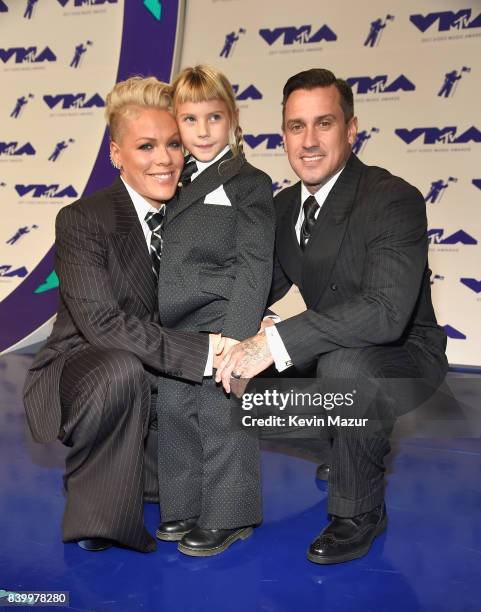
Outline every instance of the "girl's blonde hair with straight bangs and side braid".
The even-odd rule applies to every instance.
[[[184,68],[172,84],[174,111],[184,102],[222,100],[229,115],[229,145],[234,155],[242,152],[242,129],[237,118],[237,104],[229,80],[212,66]]]

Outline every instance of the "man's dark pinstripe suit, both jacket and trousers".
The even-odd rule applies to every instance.
[[[302,252],[295,235],[300,194],[298,183],[275,199],[269,299],[275,302],[295,283],[306,302],[305,312],[277,325],[294,365],[317,363],[321,381],[423,376],[439,385],[447,370],[446,336],[431,302],[422,195],[351,155]],[[370,410],[394,419],[396,399],[380,394]],[[366,406],[360,402],[358,408]],[[382,501],[389,430],[376,436],[362,428],[335,431],[331,514],[353,516]]]

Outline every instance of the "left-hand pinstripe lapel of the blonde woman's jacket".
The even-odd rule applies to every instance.
[[[137,212],[122,181],[111,189],[115,231],[113,246],[125,277],[150,312],[156,309],[156,278]]]

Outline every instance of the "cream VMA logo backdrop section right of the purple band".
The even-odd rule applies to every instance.
[[[323,67],[351,84],[355,152],[425,196],[449,360],[481,365],[480,0],[191,0],[181,64],[199,62],[235,85],[245,151],[276,192],[296,180],[280,130],[287,78]]]

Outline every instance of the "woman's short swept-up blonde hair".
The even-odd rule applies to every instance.
[[[136,107],[173,112],[172,87],[153,76],[133,76],[116,83],[107,94],[105,105],[111,140],[119,137],[122,119],[135,112]]]

